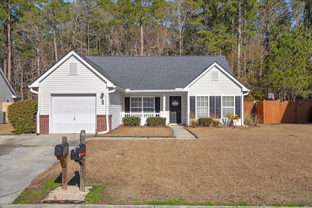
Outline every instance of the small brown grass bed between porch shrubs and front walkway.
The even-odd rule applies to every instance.
[[[119,126],[112,133],[98,134],[99,137],[172,137],[169,127]]]

